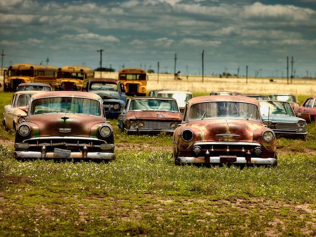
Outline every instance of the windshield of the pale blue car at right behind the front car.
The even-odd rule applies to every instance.
[[[295,116],[289,103],[278,101],[260,101],[261,115],[288,115]]]

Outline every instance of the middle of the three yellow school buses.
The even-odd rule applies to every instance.
[[[87,66],[63,66],[58,69],[55,90],[82,90],[85,79],[94,78],[94,69]]]

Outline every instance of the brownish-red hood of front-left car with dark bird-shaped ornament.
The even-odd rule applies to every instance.
[[[105,123],[105,119],[98,116],[83,114],[55,113],[33,115],[25,122],[37,124],[40,136],[90,136],[94,131],[94,124]],[[32,125],[31,125],[32,126]]]

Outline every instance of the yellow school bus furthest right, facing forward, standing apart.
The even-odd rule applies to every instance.
[[[124,83],[126,95],[146,95],[147,77],[144,70],[138,68],[121,69],[118,72],[118,80]]]

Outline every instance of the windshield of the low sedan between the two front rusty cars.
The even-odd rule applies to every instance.
[[[167,110],[179,112],[176,101],[160,99],[131,100],[129,110]]]

